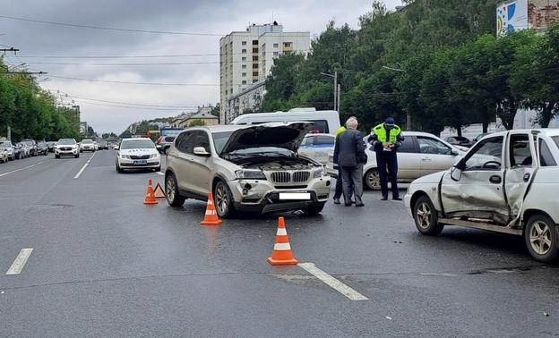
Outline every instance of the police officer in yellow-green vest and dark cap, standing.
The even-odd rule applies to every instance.
[[[376,165],[383,193],[382,200],[388,199],[387,172],[390,175],[392,199],[401,200],[398,192],[398,158],[396,156],[396,150],[404,141],[400,127],[395,124],[393,118],[389,117],[384,123],[371,130],[368,141],[373,145],[376,154]]]

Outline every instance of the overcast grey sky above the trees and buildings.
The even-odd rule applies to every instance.
[[[278,21],[318,37],[373,1],[18,0],[0,6],[4,63],[38,75],[59,102],[81,107],[99,133],[219,102],[219,38]],[[6,4],[8,3],[8,4]],[[383,1],[393,11],[400,0]],[[105,64],[103,64],[105,63]],[[134,64],[135,63],[135,64]]]

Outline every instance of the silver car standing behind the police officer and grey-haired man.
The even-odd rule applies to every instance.
[[[402,131],[404,142],[398,148],[398,182],[412,182],[429,173],[448,169],[466,154],[433,134],[420,131]],[[373,146],[364,138],[368,157],[363,166],[363,185],[369,190],[380,190],[381,181],[376,165],[376,153]],[[338,177],[338,165],[333,163],[333,152],[328,156],[326,165],[332,177]]]

